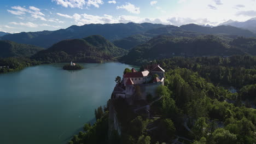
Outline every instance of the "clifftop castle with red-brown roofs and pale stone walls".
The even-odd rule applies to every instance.
[[[112,99],[124,98],[129,104],[134,100],[146,100],[147,95],[155,97],[156,88],[164,86],[165,70],[159,65],[147,65],[144,71],[131,69],[130,73],[123,75],[112,93]]]

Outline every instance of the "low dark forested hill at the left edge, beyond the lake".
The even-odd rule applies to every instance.
[[[0,40],[0,57],[29,57],[37,53],[38,51],[44,50],[43,48],[27,45],[18,44],[13,41]]]

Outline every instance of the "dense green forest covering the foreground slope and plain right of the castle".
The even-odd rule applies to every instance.
[[[122,99],[112,101],[119,136],[107,128],[108,101],[95,110],[97,122],[85,124],[69,143],[256,143],[255,63],[248,55],[152,61],[166,70],[166,79],[156,91],[162,99],[150,106],[151,118],[134,113]],[[156,129],[149,131],[150,125]]]

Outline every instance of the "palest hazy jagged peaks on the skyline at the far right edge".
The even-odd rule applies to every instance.
[[[244,28],[244,29],[248,29],[249,31],[256,33],[256,18],[250,19],[245,22],[229,20],[227,22],[220,23],[219,25],[226,25],[226,26],[229,25],[229,26]]]

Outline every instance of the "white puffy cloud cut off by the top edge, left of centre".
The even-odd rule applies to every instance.
[[[88,0],[87,2],[85,0],[52,0],[52,2],[54,1],[65,8],[71,7],[80,9],[83,9],[85,5],[94,5],[94,7],[99,8],[100,4],[104,3],[102,0]]]

